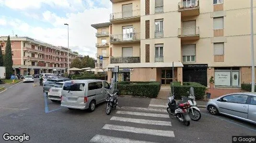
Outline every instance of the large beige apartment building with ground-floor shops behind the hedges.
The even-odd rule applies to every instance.
[[[250,0],[110,1],[108,80],[251,82]]]

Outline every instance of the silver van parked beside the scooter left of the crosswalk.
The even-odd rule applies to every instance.
[[[72,80],[63,84],[61,106],[69,109],[89,109],[93,112],[95,105],[105,102],[110,85],[103,80]]]

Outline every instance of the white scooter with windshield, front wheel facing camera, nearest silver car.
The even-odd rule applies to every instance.
[[[195,97],[195,93],[194,93],[194,88],[190,87],[189,92],[187,92],[188,95],[188,102],[191,105],[188,108],[188,112],[190,115],[191,120],[193,121],[198,121],[201,119],[201,113],[199,108],[197,107],[197,102],[196,102],[196,97]]]

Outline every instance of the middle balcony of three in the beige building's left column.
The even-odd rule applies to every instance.
[[[140,33],[128,33],[110,36],[111,44],[140,43]]]

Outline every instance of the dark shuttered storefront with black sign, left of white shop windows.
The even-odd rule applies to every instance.
[[[183,82],[198,82],[207,86],[208,64],[184,64]]]

